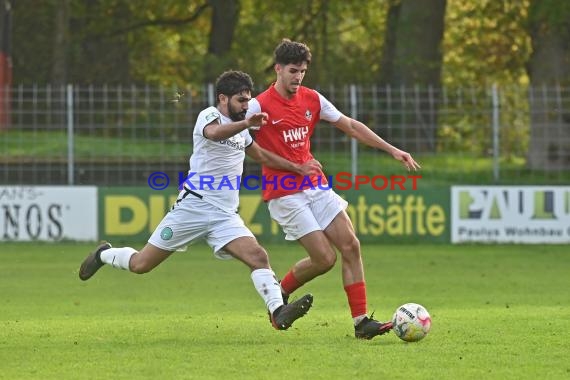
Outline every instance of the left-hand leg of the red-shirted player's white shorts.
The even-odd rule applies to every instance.
[[[271,218],[285,232],[286,240],[299,240],[313,231],[322,230],[311,210],[310,199],[304,192],[272,199],[268,208]]]

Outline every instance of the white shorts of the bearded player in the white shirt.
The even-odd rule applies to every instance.
[[[177,204],[164,216],[148,242],[166,251],[176,251],[204,239],[217,258],[231,259],[222,248],[242,236],[253,237],[253,233],[239,214],[223,211],[190,194],[185,198],[179,195]]]

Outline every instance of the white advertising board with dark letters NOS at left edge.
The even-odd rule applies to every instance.
[[[97,187],[0,186],[0,241],[97,237]]]

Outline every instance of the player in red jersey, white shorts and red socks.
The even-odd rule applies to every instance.
[[[302,86],[310,62],[310,49],[303,43],[283,39],[275,48],[276,81],[250,100],[248,110],[269,116],[267,124],[255,134],[255,141],[261,147],[298,164],[308,162],[313,159],[310,138],[322,119],[361,143],[391,154],[408,170],[420,167],[409,153],[387,143],[358,120],[345,116],[317,91]],[[368,315],[360,242],[345,211],[347,202],[326,186],[323,173],[304,178],[263,166],[262,174],[263,199],[268,202],[271,217],[279,223],[287,240],[297,240],[308,253],[282,278],[284,299],[328,272],[337,260],[336,248],[341,255],[343,285],[355,336],[372,339],[390,331],[391,322],[379,322]]]

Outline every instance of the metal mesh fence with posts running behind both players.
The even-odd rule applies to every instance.
[[[212,85],[15,86],[1,89],[2,184],[144,185],[188,170],[197,114]],[[567,184],[570,89],[343,86],[319,91],[343,113],[412,153],[424,181]],[[329,174],[402,174],[383,152],[328,123],[312,137]],[[246,160],[246,173],[259,167]]]

